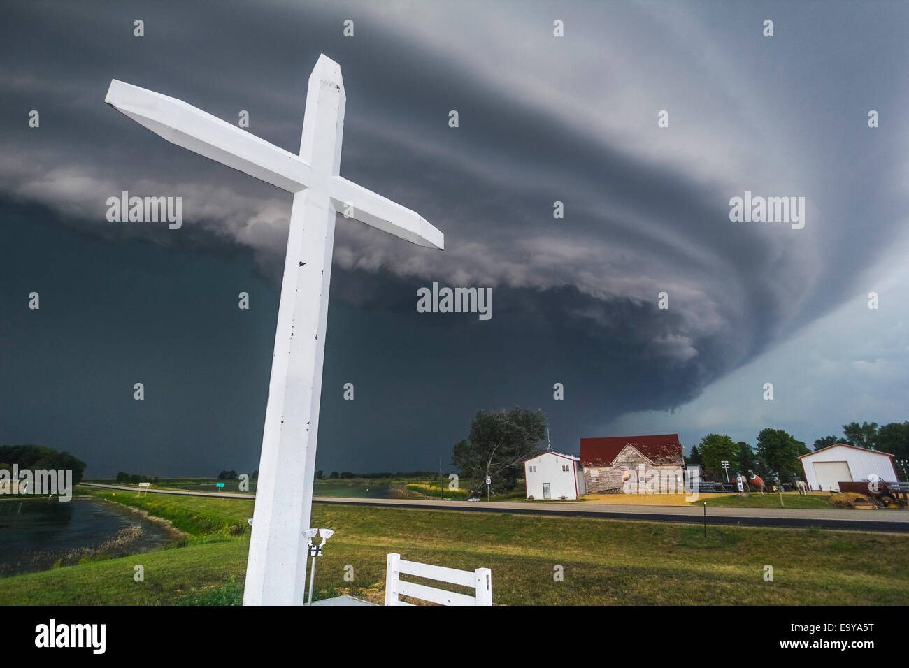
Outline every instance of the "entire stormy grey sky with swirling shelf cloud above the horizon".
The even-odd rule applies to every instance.
[[[103,100],[117,78],[231,123],[247,110],[250,132],[296,151],[320,53],[345,80],[341,174],[423,214],[446,249],[339,219],[319,468],[447,468],[475,411],[514,404],[542,408],[565,452],[623,434],[754,443],[764,426],[810,444],[909,418],[905,5],[5,14],[2,443],[70,450],[90,474],[257,466],[290,195]],[[124,190],[182,196],[183,227],[108,223],[105,200]],[[804,229],[730,222],[745,191],[803,196]],[[433,281],[492,287],[492,320],[417,314]]]

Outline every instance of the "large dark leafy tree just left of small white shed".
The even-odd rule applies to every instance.
[[[489,475],[496,486],[514,489],[516,479],[524,477],[524,461],[543,452],[539,443],[545,435],[542,411],[522,411],[517,406],[494,413],[479,411],[468,438],[452,450],[452,464],[462,479],[461,486],[469,481],[478,489]]]

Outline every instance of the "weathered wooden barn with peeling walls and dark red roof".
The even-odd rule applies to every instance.
[[[671,476],[675,489],[682,488],[684,455],[678,434],[582,438],[580,459],[585,486],[592,494],[621,490],[632,474],[644,484],[641,471],[646,476],[653,470],[662,479]]]

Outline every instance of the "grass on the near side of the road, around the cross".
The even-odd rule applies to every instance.
[[[91,494],[113,500],[109,491]],[[227,590],[237,600],[252,501],[129,492],[116,501],[174,518],[190,533],[185,547],[0,579],[0,600],[170,604],[222,601]],[[905,535],[708,526],[704,538],[702,527],[675,523],[320,503],[313,513],[314,525],[335,529],[316,566],[317,589],[375,601],[385,556],[398,552],[464,570],[489,567],[494,603],[512,605],[909,603]],[[144,583],[134,582],[137,563]],[[764,582],[765,564],[773,582]],[[354,583],[345,582],[348,565]],[[554,580],[556,566],[563,582]],[[235,583],[225,585],[231,576]]]

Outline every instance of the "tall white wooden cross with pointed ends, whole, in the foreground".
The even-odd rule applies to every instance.
[[[115,79],[105,103],[173,144],[294,194],[243,602],[301,605],[335,212],[429,248],[442,250],[445,237],[419,214],[338,175],[345,90],[341,67],[325,55],[309,77],[300,155]]]

